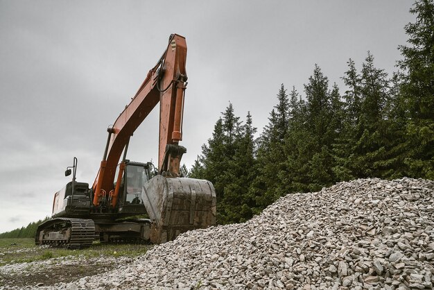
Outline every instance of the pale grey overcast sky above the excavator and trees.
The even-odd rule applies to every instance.
[[[70,178],[92,184],[106,128],[134,96],[168,37],[188,47],[183,162],[190,167],[229,101],[259,133],[280,84],[321,67],[340,92],[347,60],[371,51],[394,71],[413,1],[0,0],[0,232],[51,214]],[[157,163],[158,112],[134,133],[128,159]]]

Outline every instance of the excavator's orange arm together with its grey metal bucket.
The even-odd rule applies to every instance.
[[[95,209],[104,203],[116,210],[119,187],[130,137],[159,103],[159,174],[141,190],[146,212],[153,223],[150,240],[159,244],[175,239],[181,232],[216,224],[216,191],[208,180],[180,178],[180,160],[186,152],[182,140],[182,114],[186,88],[186,41],[171,35],[166,51],[150,69],[144,83],[114,125],[107,129],[107,146],[92,191]],[[114,186],[116,166],[121,157]]]

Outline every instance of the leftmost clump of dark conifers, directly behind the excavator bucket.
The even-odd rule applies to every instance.
[[[207,179],[214,184],[217,197],[217,222],[234,223],[252,217],[254,198],[248,187],[255,173],[252,116],[243,125],[229,103],[214,126],[213,136],[202,146],[189,177]]]

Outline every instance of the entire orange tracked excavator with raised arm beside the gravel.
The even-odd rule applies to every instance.
[[[169,37],[157,65],[112,126],[92,187],[73,178],[53,199],[51,219],[37,228],[35,244],[85,248],[95,240],[161,244],[182,232],[216,224],[216,191],[208,180],[184,178],[182,120],[186,89],[186,40]],[[127,157],[134,131],[159,103],[158,167]],[[122,159],[121,159],[122,157]],[[148,215],[149,219],[141,218]],[[139,217],[138,217],[139,216]]]

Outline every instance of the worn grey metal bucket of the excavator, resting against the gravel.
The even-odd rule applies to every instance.
[[[208,180],[155,176],[141,198],[153,221],[150,241],[161,244],[187,230],[216,225],[216,190]]]

